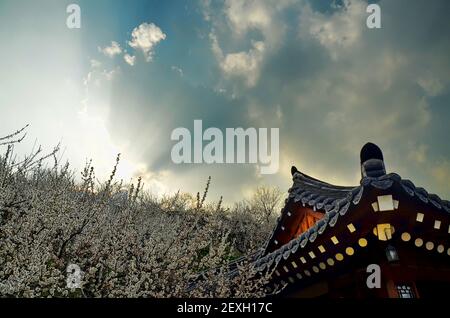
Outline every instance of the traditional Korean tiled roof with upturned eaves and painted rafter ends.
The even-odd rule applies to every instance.
[[[366,144],[361,151],[361,172],[360,185],[342,187],[292,168],[294,184],[264,252],[256,260],[259,271],[275,266],[274,285],[298,283],[345,263],[344,258],[379,241],[374,235],[377,228],[383,230],[379,225],[392,225],[385,238],[390,242],[422,247],[426,240],[431,242],[428,250],[432,247],[438,254],[450,255],[449,201],[395,173],[386,174],[381,150],[373,144]],[[297,227],[305,213],[318,215],[316,222],[300,233]]]

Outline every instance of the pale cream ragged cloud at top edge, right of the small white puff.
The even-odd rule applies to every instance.
[[[211,47],[225,77],[242,79],[247,87],[257,84],[264,59],[279,49],[281,44],[286,25],[280,15],[294,2],[227,0],[219,14],[211,11],[208,2],[203,3],[204,16],[213,26],[210,32]],[[247,37],[255,32],[258,35],[255,38]],[[224,53],[220,35],[221,38],[231,35],[234,40],[250,48],[239,51],[226,48]]]

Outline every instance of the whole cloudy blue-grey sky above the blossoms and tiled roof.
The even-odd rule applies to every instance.
[[[388,172],[449,199],[450,2],[376,3],[380,29],[363,0],[0,0],[0,135],[30,124],[20,155],[61,143],[99,179],[121,153],[118,177],[157,195],[211,176],[209,198],[225,202],[287,191],[291,165],[357,185],[371,141]],[[174,164],[171,132],[196,119],[279,128],[278,172]]]

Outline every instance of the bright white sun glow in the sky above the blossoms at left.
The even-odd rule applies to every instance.
[[[120,68],[102,68],[98,60],[84,67],[87,55],[80,35],[58,23],[64,17],[64,5],[19,8],[9,3],[0,11],[0,39],[9,43],[9,53],[0,52],[0,135],[30,124],[28,137],[16,148],[19,158],[34,143],[46,151],[61,143],[62,161],[68,160],[79,172],[92,159],[99,180],[108,178],[117,154],[122,153],[117,178],[135,182],[142,168],[123,153],[106,124],[110,83]],[[19,14],[20,23],[14,19]],[[32,27],[36,20],[43,21],[38,30]],[[46,28],[51,32],[43,31]],[[7,29],[15,30],[10,41],[5,39]]]

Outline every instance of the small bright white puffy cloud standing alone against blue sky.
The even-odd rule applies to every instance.
[[[143,23],[131,33],[131,41],[128,42],[132,48],[144,53],[147,62],[153,58],[154,47],[166,38],[166,34],[153,23]]]

